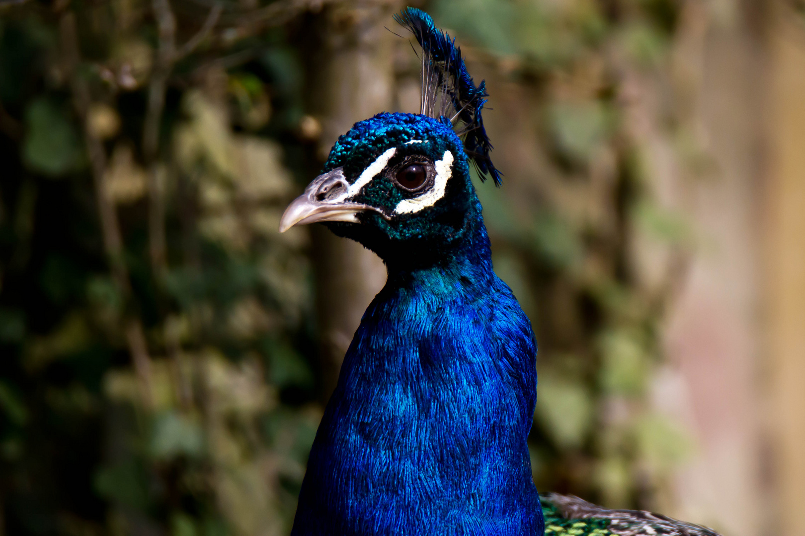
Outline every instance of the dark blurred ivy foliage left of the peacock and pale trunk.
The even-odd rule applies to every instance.
[[[208,8],[174,7],[178,50]],[[286,534],[321,412],[308,238],[277,232],[295,34],[225,5],[160,65],[149,2],[0,9],[0,531]]]

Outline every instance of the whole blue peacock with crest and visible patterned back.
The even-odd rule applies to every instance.
[[[540,495],[526,438],[537,344],[493,272],[470,179],[501,184],[455,39],[422,10],[395,19],[421,47],[419,114],[378,113],[333,145],[280,231],[324,222],[381,257],[313,442],[294,536],[706,534],[648,512]]]

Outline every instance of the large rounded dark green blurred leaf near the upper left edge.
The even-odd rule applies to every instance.
[[[61,106],[39,97],[26,110],[25,126],[23,161],[31,170],[57,177],[81,165],[81,143]]]

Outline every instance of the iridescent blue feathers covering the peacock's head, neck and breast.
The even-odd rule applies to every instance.
[[[325,170],[354,182],[389,148],[456,158],[427,211],[328,223],[377,251],[389,277],[345,356],[293,534],[542,534],[526,444],[534,333],[492,270],[467,157],[439,121],[380,114],[339,139]],[[393,189],[379,174],[354,200],[390,213],[404,195]]]

